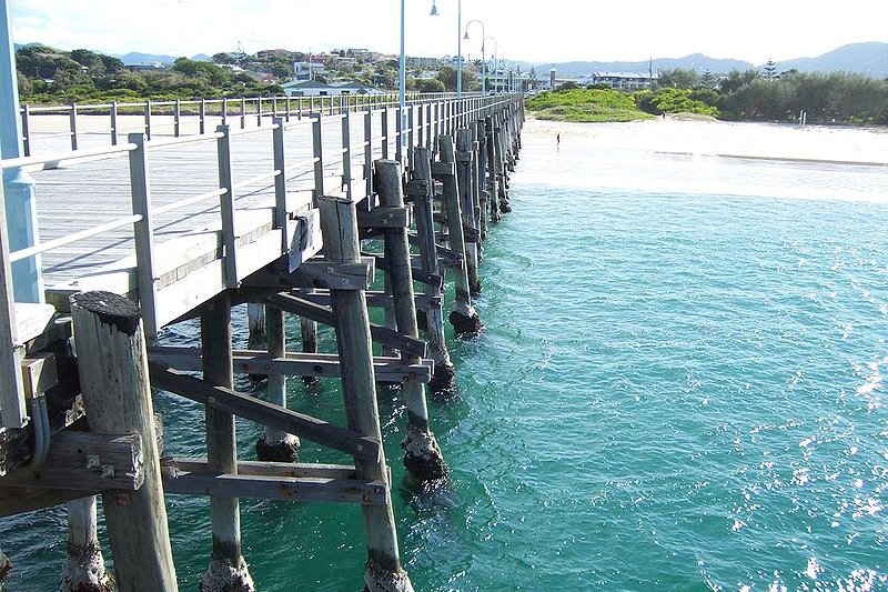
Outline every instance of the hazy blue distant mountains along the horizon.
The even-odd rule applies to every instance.
[[[21,47],[16,44],[16,49]],[[169,64],[175,61],[174,56],[157,53],[130,52],[117,56],[125,64],[151,64],[154,62]],[[204,53],[199,53],[192,60],[210,60]],[[645,61],[571,61],[571,62],[517,62],[523,71],[528,71],[532,67],[539,78],[548,76],[551,68],[555,68],[558,78],[578,78],[593,72],[639,72],[645,73],[648,69],[657,72],[673,68],[696,70],[698,72],[710,71],[714,74],[727,73],[730,70],[760,69],[764,64],[754,64],[743,60],[716,59],[693,53],[684,58],[656,58]],[[800,72],[858,72],[868,74],[872,78],[888,79],[888,43],[867,42],[851,43],[838,49],[817,56],[816,58],[795,58],[775,62],[777,70],[798,70]]]

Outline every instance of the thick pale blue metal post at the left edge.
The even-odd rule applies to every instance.
[[[8,0],[0,0],[0,154],[12,159],[22,155],[19,83],[16,78],[16,52]],[[9,250],[14,252],[38,242],[34,180],[21,169],[3,171],[6,219]],[[17,302],[43,302],[43,277],[40,255],[12,263],[12,283]]]

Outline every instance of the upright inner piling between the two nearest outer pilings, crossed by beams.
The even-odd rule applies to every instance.
[[[231,295],[222,292],[201,314],[203,380],[232,389],[234,370],[231,349]],[[206,461],[218,473],[238,474],[234,415],[205,407]],[[255,586],[241,555],[241,515],[236,498],[210,496],[213,536],[210,566],[200,582],[201,592],[254,592]]]

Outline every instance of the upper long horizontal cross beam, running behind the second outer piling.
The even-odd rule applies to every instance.
[[[201,369],[200,348],[158,347],[149,352],[152,362],[183,371]],[[236,350],[233,355],[234,372],[240,374],[265,374],[286,377],[340,378],[342,369],[335,353],[286,352],[272,355],[259,350]],[[415,364],[401,361],[400,358],[373,358],[373,369],[377,382],[398,383],[404,379],[418,382],[432,380],[434,363],[420,360]]]

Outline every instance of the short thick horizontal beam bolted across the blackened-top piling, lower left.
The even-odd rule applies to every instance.
[[[139,434],[111,435],[65,431],[56,434],[43,464],[19,469],[0,485],[65,489],[89,494],[117,489],[135,491],[144,482],[144,454]]]

